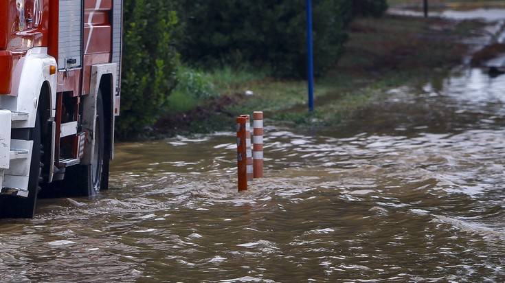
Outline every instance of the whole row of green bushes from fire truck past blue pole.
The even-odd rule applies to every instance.
[[[385,0],[313,0],[315,71],[334,66],[355,16],[381,16]],[[120,137],[153,125],[181,65],[247,64],[278,78],[306,71],[304,0],[125,0]]]

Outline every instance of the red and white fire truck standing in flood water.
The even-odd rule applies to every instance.
[[[109,186],[122,0],[0,0],[0,218]]]

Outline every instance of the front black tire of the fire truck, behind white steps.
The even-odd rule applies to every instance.
[[[32,160],[30,161],[30,177],[28,181],[28,197],[0,196],[0,218],[33,218],[37,195],[41,181],[42,155],[42,124],[41,115],[37,113],[35,128],[30,131],[30,139],[34,141]]]

